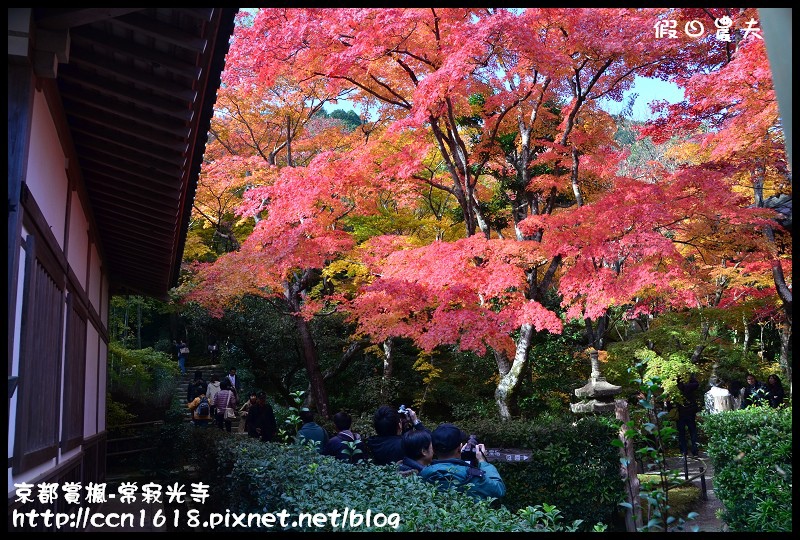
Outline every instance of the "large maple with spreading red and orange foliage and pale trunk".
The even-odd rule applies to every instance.
[[[558,291],[566,317],[583,319],[587,341],[599,347],[610,307],[635,316],[656,311],[656,299],[660,309],[701,305],[710,269],[768,256],[760,230],[770,214],[747,208],[735,171],[707,166],[718,163],[713,156],[702,156],[700,167],[658,169],[649,176],[655,181],[619,176],[624,153],[612,137],[613,119],[598,106],[601,98],[621,99],[635,74],[683,75],[688,58],[703,66],[700,85],[750,58],[742,52],[725,66],[706,65],[697,55],[707,47],[655,39],[654,26],[669,15],[260,10],[237,29],[228,58],[232,91],[289,84],[296,95],[347,95],[369,117],[359,138],[327,149],[316,138],[319,153],[305,166],[289,159],[245,192],[239,212],[258,217],[256,228],[240,250],[202,271],[195,298],[219,307],[241,294],[280,297],[305,343],[304,321],[332,300],[312,297],[315,276],[337,259],[361,261],[372,272],[369,283],[338,299],[352,300],[340,307],[359,332],[374,342],[409,337],[423,350],[457,344],[490,351],[506,418],[534,332],[562,326],[542,303],[548,291]],[[770,80],[759,83],[766,88]],[[691,100],[695,83],[687,84]],[[688,115],[671,127],[698,127],[690,123]],[[740,148],[714,146],[732,160]],[[745,154],[737,159],[753,163]],[[348,232],[379,201],[414,209],[431,190],[456,201],[463,238],[420,245],[420,238],[378,236],[356,245]],[[513,230],[497,226],[493,235],[487,204],[498,191]],[[327,414],[313,343],[305,355],[314,398]]]

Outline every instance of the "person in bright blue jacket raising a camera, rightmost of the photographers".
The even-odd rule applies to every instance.
[[[506,485],[497,468],[486,461],[486,447],[473,435],[467,446],[467,434],[453,424],[440,424],[431,433],[436,459],[422,469],[420,476],[443,489],[455,487],[473,499],[500,498],[506,494]],[[462,455],[462,450],[467,452]],[[475,456],[473,465],[464,458]]]

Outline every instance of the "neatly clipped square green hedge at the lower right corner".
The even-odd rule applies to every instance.
[[[714,492],[733,532],[792,530],[792,409],[703,415]]]

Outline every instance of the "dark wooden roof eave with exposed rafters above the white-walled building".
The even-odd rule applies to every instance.
[[[34,11],[37,48],[68,36],[56,85],[112,293],[177,284],[236,11]]]

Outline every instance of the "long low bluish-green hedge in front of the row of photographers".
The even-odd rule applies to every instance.
[[[475,502],[455,490],[441,491],[417,476],[402,476],[392,466],[350,465],[303,446],[261,443],[239,437],[216,441],[216,467],[203,468],[203,481],[215,500],[204,511],[300,514],[358,512],[381,514],[367,526],[333,527],[303,522],[290,530],[398,532],[513,532],[584,530],[583,522],[563,524],[557,508],[525,508],[513,513],[491,501]],[[597,525],[602,529],[602,525]],[[280,530],[280,527],[276,529]],[[276,530],[250,523],[234,530]]]

